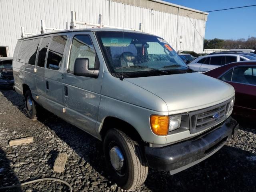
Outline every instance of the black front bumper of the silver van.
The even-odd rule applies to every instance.
[[[196,138],[162,148],[146,146],[148,166],[168,170],[170,174],[178,173],[210,157],[222,148],[232,135],[235,137],[237,132],[238,123],[229,117]]]

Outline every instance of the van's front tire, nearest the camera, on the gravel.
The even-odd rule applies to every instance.
[[[123,165],[116,166],[110,160],[110,153],[121,152]],[[131,190],[140,186],[148,176],[148,166],[142,148],[124,132],[111,129],[104,138],[104,155],[106,168],[111,178],[124,190]],[[114,159],[113,155],[112,159]],[[118,158],[119,160],[122,158]],[[120,162],[120,161],[118,161]],[[122,164],[122,163],[120,163]],[[120,165],[118,164],[118,165]],[[117,169],[118,167],[118,169]],[[120,168],[121,167],[121,168]]]

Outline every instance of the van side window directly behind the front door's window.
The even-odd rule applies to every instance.
[[[62,61],[67,36],[53,36],[48,51],[46,68],[58,70]]]

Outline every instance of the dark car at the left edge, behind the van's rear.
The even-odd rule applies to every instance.
[[[12,57],[0,57],[0,88],[14,86]]]

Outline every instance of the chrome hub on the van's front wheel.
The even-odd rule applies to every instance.
[[[109,152],[110,162],[115,170],[119,171],[124,166],[124,156],[118,146],[111,148]]]

